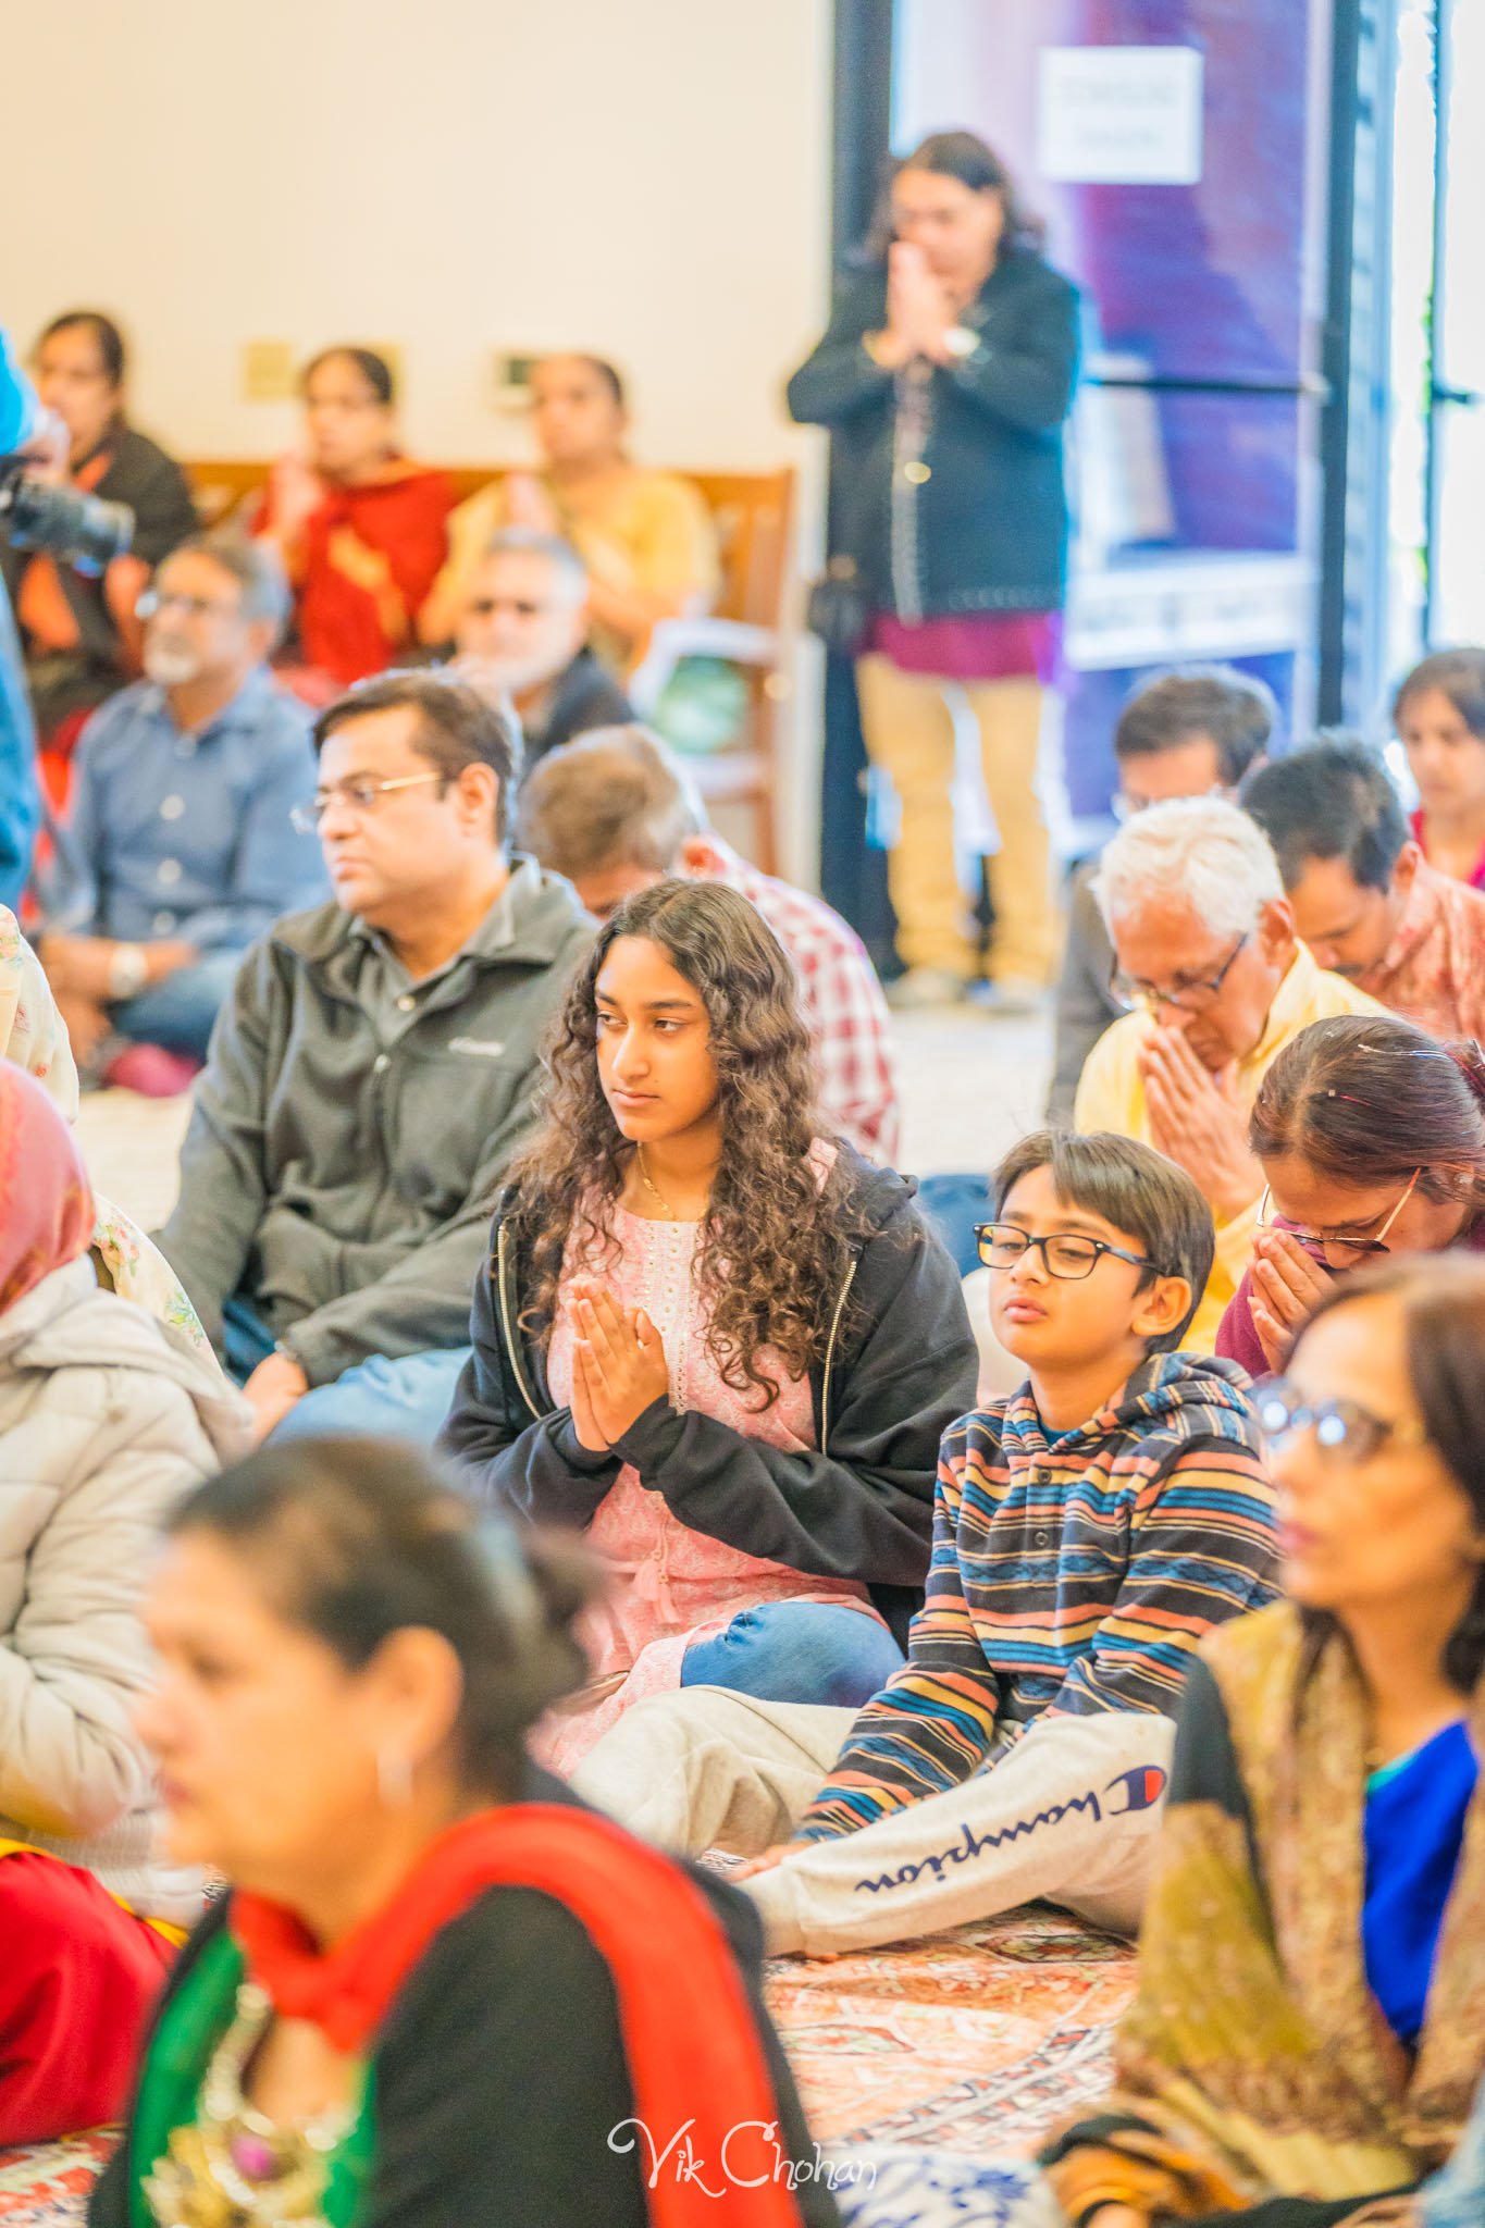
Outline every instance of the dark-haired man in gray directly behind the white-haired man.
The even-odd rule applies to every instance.
[[[1262,766],[1278,704],[1262,682],[1236,666],[1182,666],[1144,682],[1113,729],[1120,789],[1118,820],[1167,798],[1231,798]],[[1113,947],[1093,896],[1098,860],[1084,860],[1069,887],[1066,945],[1058,983],[1053,1078],[1046,1118],[1071,1121],[1078,1076],[1111,1020],[1124,1012],[1109,991]]]

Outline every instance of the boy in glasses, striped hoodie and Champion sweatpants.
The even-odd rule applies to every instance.
[[[1196,1644],[1276,1593],[1247,1377],[1180,1350],[1213,1252],[1191,1179],[1129,1139],[1040,1132],[993,1199],[991,1315],[1026,1384],[944,1435],[902,1671],[855,1718],[699,1687],[641,1702],[577,1776],[661,1843],[753,1856],[777,1952],[1033,1896],[1131,1932]]]

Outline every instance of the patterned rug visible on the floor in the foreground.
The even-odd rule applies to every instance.
[[[906,1950],[777,1958],[768,2003],[857,2228],[1031,2221],[1011,2161],[1093,2103],[1133,1950],[1031,1905]],[[0,2152],[0,2228],[76,2228],[109,2134]],[[871,2161],[853,2181],[850,2161]],[[857,2168],[859,2170],[859,2168]]]

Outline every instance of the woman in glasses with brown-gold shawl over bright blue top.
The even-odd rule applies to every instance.
[[[1405,2221],[1485,2065],[1485,1268],[1331,1290],[1258,1397],[1289,1600],[1187,1682],[1078,2228]],[[1282,2206],[1278,2203],[1282,2199]]]

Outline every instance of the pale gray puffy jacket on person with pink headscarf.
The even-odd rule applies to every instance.
[[[183,1925],[200,1880],[156,1849],[140,1602],[160,1524],[247,1453],[249,1421],[212,1357],[87,1259],[0,1315],[0,1838]]]

